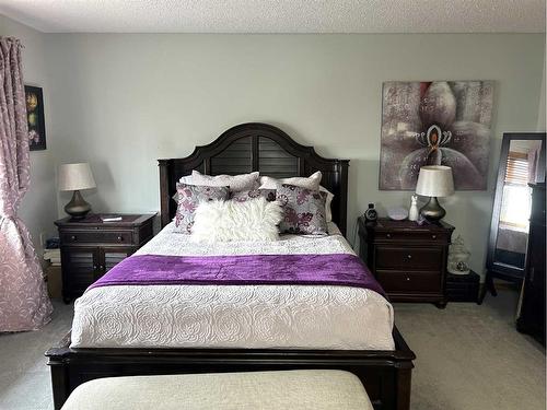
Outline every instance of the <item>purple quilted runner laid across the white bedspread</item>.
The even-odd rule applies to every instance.
[[[385,296],[354,255],[138,255],[123,260],[89,289],[153,284],[302,284],[365,288]]]

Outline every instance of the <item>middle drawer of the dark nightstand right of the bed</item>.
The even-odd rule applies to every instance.
[[[442,248],[376,246],[376,269],[437,270],[443,269]]]

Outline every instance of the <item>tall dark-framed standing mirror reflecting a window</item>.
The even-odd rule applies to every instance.
[[[532,189],[545,181],[545,133],[505,133],[490,225],[486,288],[493,278],[522,283],[526,266]]]

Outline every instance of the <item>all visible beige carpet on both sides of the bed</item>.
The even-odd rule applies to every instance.
[[[415,410],[545,409],[545,352],[514,329],[516,294],[485,304],[397,304],[397,326],[418,359]],[[44,351],[70,328],[71,306],[55,304],[36,332],[0,335],[0,409],[53,409]]]

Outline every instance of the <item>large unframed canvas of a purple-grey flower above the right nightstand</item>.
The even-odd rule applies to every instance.
[[[411,190],[423,165],[451,166],[455,189],[487,188],[492,81],[385,82],[380,189]]]

